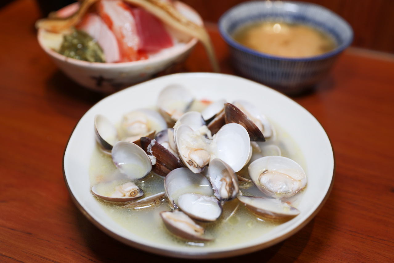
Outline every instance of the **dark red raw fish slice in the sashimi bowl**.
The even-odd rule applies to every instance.
[[[153,53],[173,46],[173,41],[160,20],[142,8],[133,8],[132,13],[140,38],[140,50]]]

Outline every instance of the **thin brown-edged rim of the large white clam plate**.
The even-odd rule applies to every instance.
[[[303,220],[298,226],[296,226],[294,229],[292,229],[291,231],[288,231],[286,233],[284,233],[283,235],[272,239],[268,242],[263,242],[260,244],[255,244],[253,246],[247,246],[247,247],[242,247],[242,248],[238,248],[238,249],[232,249],[232,250],[220,250],[220,251],[208,251],[208,252],[204,252],[204,251],[192,251],[192,252],[185,252],[185,251],[171,251],[171,250],[166,250],[163,248],[158,248],[156,246],[150,246],[150,245],[146,245],[146,244],[142,244],[139,242],[135,242],[132,241],[130,239],[127,239],[125,237],[122,237],[121,235],[118,235],[114,232],[112,232],[110,229],[106,228],[105,226],[103,226],[102,224],[100,224],[95,218],[93,218],[93,216],[91,216],[86,209],[78,202],[78,200],[76,199],[76,197],[74,196],[74,194],[71,191],[71,188],[69,186],[69,183],[67,181],[66,178],[66,173],[65,173],[65,156],[66,156],[66,151],[67,151],[67,147],[69,145],[70,139],[72,137],[72,135],[74,134],[74,131],[76,129],[76,127],[78,126],[78,124],[80,123],[80,121],[82,120],[82,118],[84,118],[84,116],[87,114],[87,112],[89,112],[89,110],[91,108],[93,108],[95,105],[97,105],[98,103],[100,103],[101,101],[107,99],[108,97],[111,97],[114,94],[117,93],[121,93],[125,90],[128,90],[130,88],[134,88],[136,86],[140,86],[140,85],[145,85],[146,82],[150,82],[151,80],[147,80],[145,82],[141,82],[139,84],[136,84],[134,86],[130,86],[128,88],[125,88],[124,90],[121,91],[117,91],[115,93],[113,93],[112,95],[109,95],[107,97],[104,97],[102,99],[100,99],[99,101],[97,101],[97,103],[95,103],[93,106],[91,106],[89,108],[89,110],[87,110],[85,112],[85,114],[78,120],[78,122],[75,124],[74,128],[72,129],[72,132],[67,140],[67,143],[65,145],[65,149],[63,152],[63,158],[62,158],[62,171],[63,171],[63,179],[65,181],[65,185],[67,187],[67,191],[70,194],[70,197],[72,199],[72,201],[74,202],[74,204],[76,205],[76,207],[81,211],[81,213],[91,222],[93,223],[93,225],[95,225],[97,228],[99,228],[101,231],[103,231],[104,233],[106,233],[107,235],[109,235],[110,237],[116,239],[117,241],[120,241],[128,246],[132,246],[134,248],[138,248],[140,250],[143,250],[145,252],[149,252],[152,254],[156,254],[159,256],[167,256],[167,257],[176,257],[176,258],[183,258],[183,259],[216,259],[216,258],[225,258],[225,257],[232,257],[232,256],[240,256],[243,254],[249,254],[252,252],[256,252],[258,250],[262,250],[264,248],[268,248],[269,246],[273,246],[289,237],[291,237],[292,235],[294,235],[295,233],[297,233],[299,230],[301,230],[304,226],[306,226],[311,220],[312,218],[314,218],[314,216],[317,215],[317,213],[320,211],[320,209],[322,209],[323,205],[325,204],[325,202],[327,201],[331,190],[333,188],[333,184],[334,184],[334,179],[335,179],[335,169],[336,169],[336,161],[335,161],[335,151],[334,151],[334,147],[333,144],[331,142],[331,139],[329,138],[327,132],[325,131],[324,127],[322,126],[322,124],[320,123],[320,121],[318,121],[318,119],[316,119],[313,114],[311,114],[307,109],[305,109],[303,106],[301,106],[300,104],[298,104],[296,101],[292,100],[290,97],[288,97],[287,95],[284,95],[282,93],[280,93],[279,91],[273,90],[272,88],[269,88],[263,84],[260,84],[258,82],[255,82],[253,80],[249,80],[246,78],[242,78],[240,76],[235,76],[235,75],[229,75],[229,74],[223,74],[223,73],[175,73],[175,74],[171,74],[171,75],[165,75],[165,76],[161,76],[158,78],[154,78],[152,80],[158,80],[160,78],[173,78],[173,77],[178,77],[178,76],[197,76],[197,77],[214,77],[214,76],[225,76],[225,77],[233,77],[233,78],[239,78],[245,81],[249,81],[249,82],[253,82],[256,84],[259,84],[260,86],[264,87],[264,88],[268,88],[272,91],[275,91],[277,93],[279,93],[280,95],[287,97],[288,99],[290,99],[293,103],[296,103],[299,107],[303,108],[303,110],[305,110],[306,112],[308,112],[310,114],[310,116],[312,116],[318,123],[319,125],[322,127],[325,135],[327,136],[327,139],[329,140],[329,143],[331,145],[331,150],[332,150],[332,157],[333,157],[333,174],[331,177],[331,182],[330,185],[327,189],[327,192],[325,194],[325,196],[323,197],[322,201],[320,202],[320,204],[318,205],[318,207],[316,207],[316,209],[314,209],[314,211],[310,214],[310,216],[308,216],[308,218],[306,218],[305,220]]]

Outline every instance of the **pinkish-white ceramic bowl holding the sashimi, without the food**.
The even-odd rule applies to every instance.
[[[203,24],[200,15],[190,6],[179,1],[175,1],[174,6],[186,18],[196,24]],[[60,9],[58,14],[62,13],[68,16],[77,9],[78,3],[74,3]],[[59,54],[48,45],[50,37],[48,37],[46,30],[42,28],[38,30],[37,39],[41,48],[65,75],[85,88],[105,94],[152,78],[171,68],[171,66],[183,62],[197,44],[196,38],[189,38],[188,41],[177,43],[174,47],[165,48],[146,60],[99,63],[76,60]]]

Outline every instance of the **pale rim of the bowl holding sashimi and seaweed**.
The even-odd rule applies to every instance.
[[[193,11],[193,13],[198,15],[199,20],[201,21],[201,24],[203,26],[203,19],[201,18],[201,15],[195,9],[193,9],[188,4],[185,4],[184,2],[181,2],[181,1],[176,1],[176,2],[177,2],[177,4],[180,4],[182,6],[182,8],[183,7],[188,8],[191,11]],[[75,3],[69,4],[68,6],[62,7],[61,9],[69,8],[70,6],[77,5],[77,4],[79,4],[79,3],[75,2]],[[61,9],[59,9],[59,10],[61,10]],[[162,54],[160,56],[154,56],[153,58],[148,58],[148,59],[144,59],[144,60],[137,60],[137,61],[130,61],[130,62],[104,62],[104,63],[102,63],[102,62],[89,62],[89,61],[85,61],[85,60],[77,60],[75,58],[69,58],[69,57],[66,57],[62,54],[59,54],[58,52],[52,50],[49,47],[46,47],[46,45],[43,43],[43,40],[42,40],[42,34],[44,31],[45,30],[43,28],[39,28],[39,30],[37,32],[37,40],[38,40],[40,47],[48,55],[50,55],[53,58],[56,58],[57,60],[67,62],[70,64],[74,64],[74,65],[77,65],[80,67],[95,67],[98,69],[102,69],[102,68],[116,69],[116,68],[120,68],[120,67],[130,67],[130,66],[149,66],[150,64],[157,63],[160,61],[165,61],[170,58],[177,57],[178,55],[181,55],[184,52],[187,52],[188,50],[193,48],[197,44],[197,41],[198,41],[198,39],[196,37],[192,37],[188,42],[184,43],[184,45],[180,46],[179,48],[176,48],[175,50],[171,50],[170,52],[167,52],[167,53]]]

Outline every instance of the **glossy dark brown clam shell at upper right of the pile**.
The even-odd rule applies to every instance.
[[[251,141],[265,142],[266,140],[253,120],[231,103],[225,103],[225,121],[226,123],[238,123],[245,127]]]

